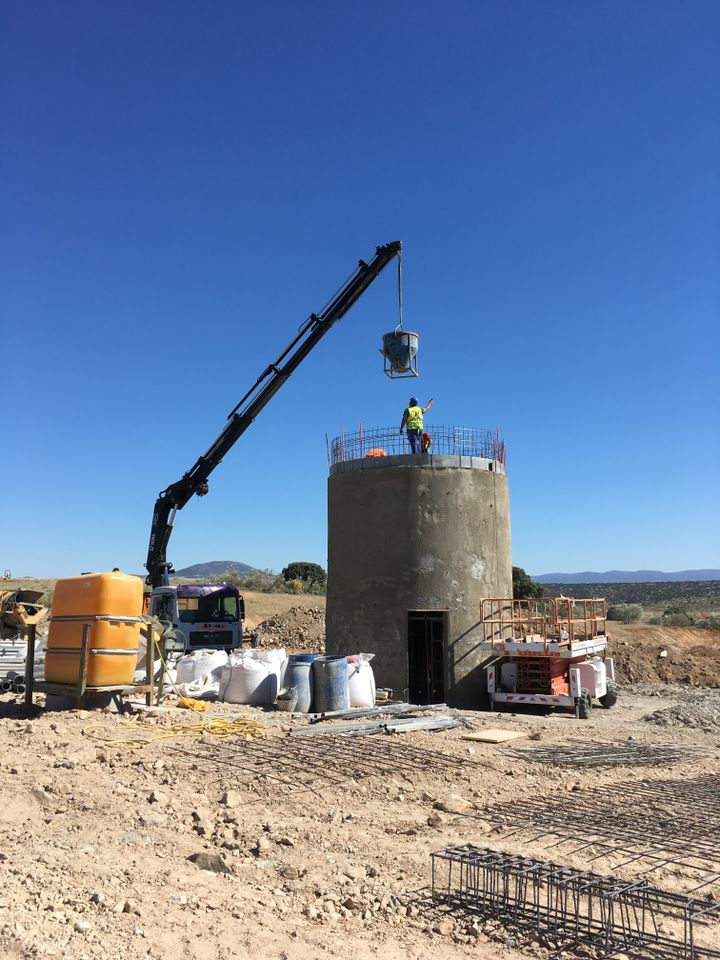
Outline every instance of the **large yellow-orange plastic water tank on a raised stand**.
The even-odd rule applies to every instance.
[[[132,683],[142,605],[142,580],[119,570],[58,580],[50,613],[45,679],[49,683],[78,683],[83,628],[87,624],[87,686]]]

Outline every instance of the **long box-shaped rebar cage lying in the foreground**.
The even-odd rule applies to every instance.
[[[720,904],[472,844],[433,853],[432,896],[562,949],[643,960],[720,957]]]

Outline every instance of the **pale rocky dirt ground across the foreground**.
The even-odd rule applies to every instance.
[[[598,790],[717,771],[717,727],[669,731],[645,719],[687,699],[682,687],[658,692],[625,691],[614,709],[595,709],[584,722],[559,713],[465,716],[477,729],[530,735],[523,746],[635,738],[700,749],[674,766],[592,770]],[[152,740],[172,734],[170,724],[208,718],[179,710],[133,718],[41,710],[28,718],[0,699],[0,956],[549,956],[537,944],[518,948],[494,925],[435,913],[430,853],[475,842],[582,864],[583,855],[567,859],[547,840],[520,840],[477,817],[499,800],[563,803],[588,782],[587,771],[518,759],[515,744],[469,743],[462,728],[341,743],[315,737],[307,747],[315,759],[288,767],[298,740],[287,724],[296,721],[213,710],[259,719],[265,737],[170,735],[128,749],[95,737]],[[189,859],[197,854],[223,872],[202,869],[202,858]],[[608,868],[602,859],[592,866]],[[633,875],[632,867],[616,872]],[[674,870],[654,882],[683,890],[692,878]],[[720,885],[705,892],[720,898]]]

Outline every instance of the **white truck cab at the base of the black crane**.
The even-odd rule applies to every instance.
[[[228,583],[181,583],[156,587],[150,613],[172,627],[173,647],[234,650],[242,646],[245,601]]]

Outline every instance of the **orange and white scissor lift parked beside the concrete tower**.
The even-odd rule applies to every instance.
[[[588,719],[594,699],[603,707],[617,702],[605,600],[489,597],[480,602],[480,620],[480,647],[492,658],[485,664],[492,707],[569,707]]]

